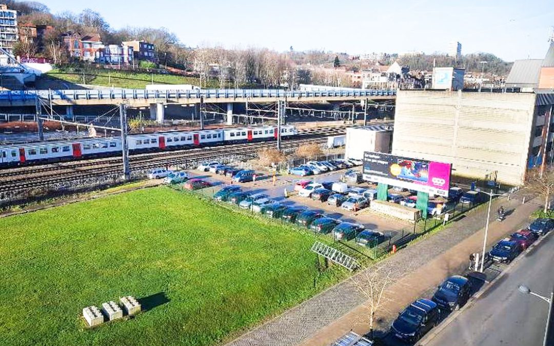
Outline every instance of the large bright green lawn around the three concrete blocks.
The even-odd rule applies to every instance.
[[[348,275],[314,288],[314,236],[165,187],[0,219],[0,235],[2,345],[214,344]],[[126,295],[151,309],[80,321]]]

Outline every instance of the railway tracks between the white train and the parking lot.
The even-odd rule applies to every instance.
[[[345,133],[346,126],[320,127],[299,132],[296,138],[284,140],[283,149],[305,143],[324,143],[326,136]],[[228,144],[224,146],[178,149],[167,152],[134,154],[130,157],[131,171],[147,171],[160,166],[195,166],[210,158],[253,158],[262,148],[274,147],[275,142]],[[0,194],[14,193],[40,187],[52,187],[72,180],[85,180],[121,174],[121,157],[60,162],[41,166],[18,167],[0,171]],[[0,197],[1,199],[1,197]]]

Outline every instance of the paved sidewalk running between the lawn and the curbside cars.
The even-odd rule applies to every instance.
[[[533,202],[522,205],[516,199],[510,202],[495,201],[493,210],[500,204],[506,209],[517,208],[503,223],[490,224],[489,244],[524,225],[532,211],[538,208]],[[396,291],[394,303],[383,309],[390,313],[377,316],[377,319],[389,321],[423,292],[436,287],[448,275],[463,270],[468,265],[469,254],[482,249],[486,211],[486,208],[471,211],[440,233],[383,260],[382,265],[395,266],[406,276],[402,282],[389,288],[392,292]],[[409,267],[418,270],[410,272]],[[406,285],[411,287],[409,292]],[[351,329],[365,334],[368,326],[360,323],[367,321],[363,316],[364,301],[350,280],[346,280],[242,335],[229,345],[329,345]],[[376,329],[388,328],[387,324],[376,326]]]

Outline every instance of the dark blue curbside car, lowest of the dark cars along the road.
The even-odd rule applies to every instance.
[[[391,333],[408,343],[416,343],[425,333],[439,323],[437,303],[429,299],[418,299],[398,314],[391,325]]]

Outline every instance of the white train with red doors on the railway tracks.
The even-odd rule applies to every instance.
[[[130,152],[156,151],[177,147],[209,146],[219,143],[271,141],[277,138],[276,126],[157,132],[127,136]],[[294,136],[296,128],[281,126],[281,138]],[[0,167],[19,164],[67,161],[81,157],[111,156],[121,152],[121,138],[86,138],[84,140],[38,142],[0,146]]]

